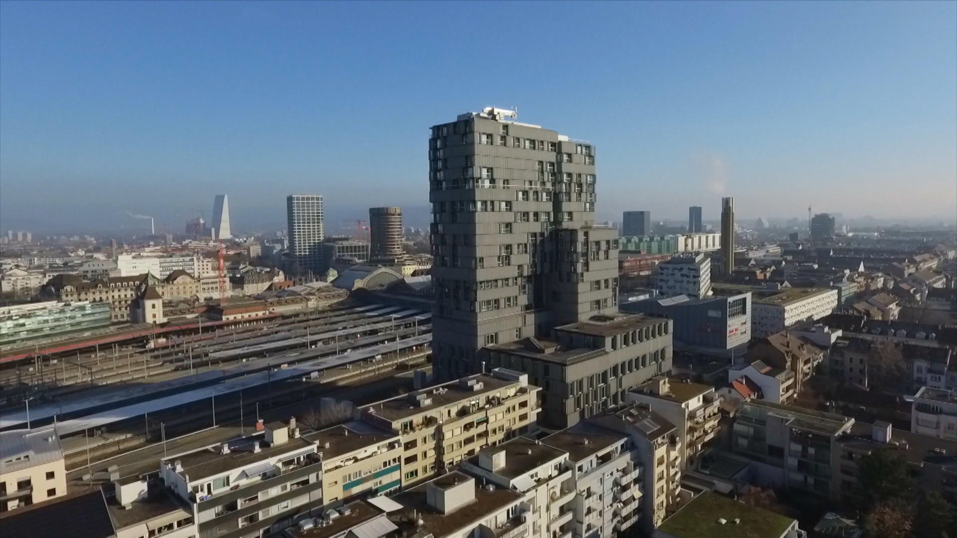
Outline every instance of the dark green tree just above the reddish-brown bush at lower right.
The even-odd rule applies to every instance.
[[[912,500],[914,484],[907,474],[907,462],[900,456],[875,450],[860,459],[857,470],[855,504],[861,513],[870,513],[881,503]]]

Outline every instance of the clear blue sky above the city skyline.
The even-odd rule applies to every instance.
[[[4,1],[0,228],[425,207],[492,104],[596,145],[601,219],[957,213],[953,2]]]

